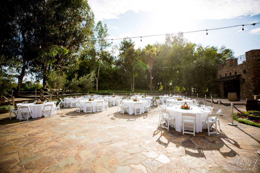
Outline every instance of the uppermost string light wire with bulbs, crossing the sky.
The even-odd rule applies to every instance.
[[[192,33],[192,32],[201,32],[201,31],[211,31],[211,30],[218,30],[218,29],[225,29],[225,28],[231,28],[231,27],[237,27],[237,26],[242,26],[242,31],[244,29],[244,26],[248,26],[248,25],[253,25],[255,26],[256,24],[259,24],[260,22],[256,22],[256,23],[250,23],[250,24],[243,24],[243,25],[235,25],[235,26],[226,26],[226,27],[219,27],[219,28],[212,28],[212,29],[206,29],[206,30],[197,30],[197,31],[187,31],[187,32],[178,32],[178,33],[171,33],[171,34],[155,34],[155,35],[149,35],[149,36],[138,36],[138,37],[127,37],[127,38],[142,38],[143,37],[153,37],[153,36],[163,36],[163,35],[176,35],[179,33]],[[122,39],[127,39],[127,38],[113,38],[113,39],[95,39],[95,40],[84,40],[84,42],[89,42],[89,41],[106,41],[106,40],[112,40],[111,43],[113,43],[113,40],[122,40]],[[79,42],[79,40],[75,40],[75,41],[70,41],[71,42]],[[21,43],[27,43],[27,42],[20,42]],[[35,44],[41,44],[41,43],[57,43],[57,42],[34,42]],[[59,42],[60,44],[62,44],[63,42]],[[2,42],[2,47],[3,47],[3,42]]]

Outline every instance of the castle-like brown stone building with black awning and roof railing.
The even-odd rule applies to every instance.
[[[218,64],[216,75],[220,97],[236,92],[237,98],[250,99],[260,93],[260,49],[245,52],[226,64]]]

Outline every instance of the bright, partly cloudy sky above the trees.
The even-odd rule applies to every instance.
[[[125,37],[133,38],[135,48],[156,42],[164,43],[165,35],[206,30],[260,22],[259,0],[196,0],[196,1],[154,1],[154,0],[88,0],[95,23],[107,24],[113,45]],[[142,37],[142,41],[141,38]],[[227,29],[185,33],[184,38],[203,46],[225,45],[235,56],[260,49],[260,23],[231,27]],[[112,40],[109,40],[109,42]]]

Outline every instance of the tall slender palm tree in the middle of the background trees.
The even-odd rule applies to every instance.
[[[150,93],[152,93],[152,69],[153,64],[156,59],[156,48],[154,49],[153,45],[148,44],[145,46],[145,55],[147,56],[146,64],[148,66],[148,70],[150,71]]]

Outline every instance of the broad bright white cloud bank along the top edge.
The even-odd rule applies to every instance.
[[[260,14],[259,0],[218,0],[218,1],[155,1],[155,0],[89,0],[96,21],[120,18],[128,10],[153,12],[161,16],[186,18],[230,19]]]

